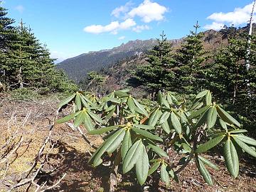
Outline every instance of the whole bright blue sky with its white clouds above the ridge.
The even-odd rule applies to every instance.
[[[186,36],[223,24],[245,26],[252,0],[4,0],[9,17],[33,29],[58,61],[135,39]]]

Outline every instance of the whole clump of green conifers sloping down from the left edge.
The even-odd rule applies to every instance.
[[[0,91],[4,84],[9,89],[33,87],[46,92],[72,92],[77,86],[63,71],[55,68],[54,59],[46,46],[42,46],[31,28],[23,21],[18,27],[6,17],[0,7]]]

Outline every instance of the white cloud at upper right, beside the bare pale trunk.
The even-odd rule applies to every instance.
[[[209,28],[210,26],[216,27],[220,26],[220,23],[227,23],[230,25],[241,25],[247,23],[250,20],[250,14],[252,12],[253,2],[242,8],[235,8],[234,11],[228,13],[213,13],[207,17],[207,19],[213,20],[210,25],[204,26],[204,28]]]

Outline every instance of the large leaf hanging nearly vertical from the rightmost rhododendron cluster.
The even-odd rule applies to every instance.
[[[231,176],[236,178],[239,172],[238,153],[235,150],[235,146],[233,142],[231,142],[230,138],[228,138],[224,145],[224,159]]]

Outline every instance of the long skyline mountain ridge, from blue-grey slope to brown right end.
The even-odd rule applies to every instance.
[[[253,23],[252,31],[255,33],[256,24]],[[242,28],[223,28],[223,31],[215,31],[213,29],[203,31],[204,37],[203,46],[206,51],[213,53],[221,44],[228,43],[227,34],[233,33],[233,30],[247,31],[248,26]],[[228,32],[229,31],[229,32]],[[174,50],[181,47],[181,43],[184,42],[186,36],[178,39],[169,40],[174,47]],[[57,64],[57,68],[65,70],[70,79],[79,82],[86,77],[87,73],[95,70],[100,71],[102,68],[109,68],[122,60],[129,60],[137,55],[146,53],[146,51],[153,48],[156,45],[156,39],[150,38],[148,40],[134,40],[128,41],[127,43],[122,43],[120,46],[116,46],[111,49],[103,49],[99,51],[90,51],[88,53],[82,53],[73,58],[68,58]]]

